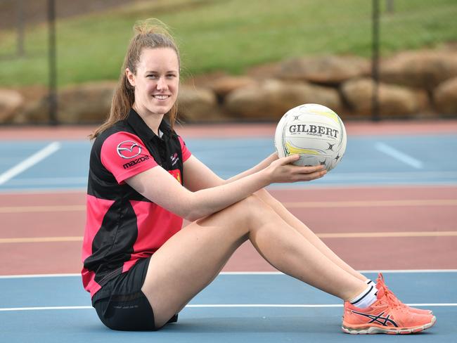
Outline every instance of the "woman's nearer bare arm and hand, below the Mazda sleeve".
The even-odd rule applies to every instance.
[[[195,192],[182,187],[161,167],[143,171],[127,179],[126,182],[157,205],[194,221],[233,205],[270,183],[310,181],[326,174],[321,166],[297,167],[290,164],[297,159],[298,155],[284,157],[271,162],[266,168],[230,183]],[[184,182],[186,177],[191,179],[199,177],[195,172],[191,176],[186,176],[189,171],[191,169],[185,169]]]

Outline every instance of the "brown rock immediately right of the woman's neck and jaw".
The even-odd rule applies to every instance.
[[[178,94],[179,117],[190,121],[217,121],[222,118],[215,94],[209,89],[181,85]]]

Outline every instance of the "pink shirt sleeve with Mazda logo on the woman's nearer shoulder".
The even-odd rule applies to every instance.
[[[105,139],[101,162],[117,183],[158,165],[138,136],[122,131]]]

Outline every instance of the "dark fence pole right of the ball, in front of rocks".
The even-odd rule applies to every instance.
[[[373,37],[371,77],[373,77],[373,95],[371,98],[371,119],[375,122],[380,120],[379,108],[379,0],[373,0]]]

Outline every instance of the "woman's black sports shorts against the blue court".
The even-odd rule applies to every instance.
[[[157,330],[154,312],[146,295],[141,292],[150,257],[141,259],[126,273],[108,281],[92,297],[92,306],[103,324],[112,330]],[[168,323],[178,320],[176,314]]]

